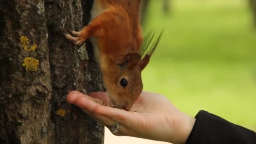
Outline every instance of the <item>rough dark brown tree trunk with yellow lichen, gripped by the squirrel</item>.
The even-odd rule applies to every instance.
[[[104,91],[90,42],[63,35],[88,23],[92,3],[0,0],[0,144],[103,144],[104,127],[65,100]]]

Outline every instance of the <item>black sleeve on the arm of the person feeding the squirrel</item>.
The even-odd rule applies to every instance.
[[[256,133],[247,128],[203,110],[195,118],[186,144],[256,144]]]

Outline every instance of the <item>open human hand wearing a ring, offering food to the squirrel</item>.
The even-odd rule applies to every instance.
[[[95,102],[97,99],[109,102],[107,93],[85,95],[71,91],[67,95],[70,104],[80,107],[108,128],[115,122],[120,123],[118,133],[113,133],[117,136],[184,144],[195,123],[195,118],[179,111],[167,98],[157,93],[142,92],[132,111],[102,106]]]

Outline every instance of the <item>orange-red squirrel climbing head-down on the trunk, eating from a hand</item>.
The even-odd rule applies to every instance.
[[[75,45],[91,38],[110,102],[127,111],[141,94],[141,71],[162,35],[155,42],[152,31],[143,38],[140,7],[141,0],[94,0],[91,22],[78,32],[71,31],[74,37],[65,35]]]

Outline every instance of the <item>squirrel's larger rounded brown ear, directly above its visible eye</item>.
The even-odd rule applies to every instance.
[[[128,53],[123,58],[116,61],[116,64],[120,67],[133,68],[141,60],[141,55],[139,53]]]

